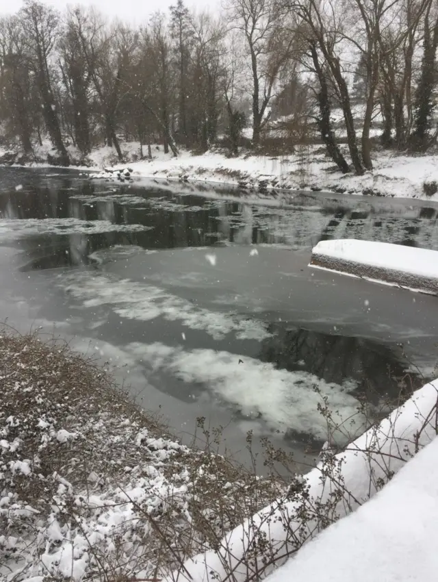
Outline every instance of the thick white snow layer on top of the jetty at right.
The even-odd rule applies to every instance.
[[[313,247],[312,255],[438,279],[438,252],[413,246],[355,239],[322,240]]]

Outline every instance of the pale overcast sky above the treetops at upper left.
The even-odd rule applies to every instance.
[[[66,5],[83,4],[94,5],[100,12],[110,16],[110,18],[121,18],[129,23],[142,23],[148,16],[157,10],[168,10],[169,6],[175,4],[176,0],[43,0],[44,4],[51,4],[58,10],[62,10]],[[220,4],[220,0],[186,0],[189,8],[196,10],[209,8],[213,11]],[[0,14],[11,14],[16,12],[22,5],[21,0],[0,0]]]

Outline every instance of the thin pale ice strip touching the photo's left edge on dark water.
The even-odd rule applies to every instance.
[[[10,240],[11,235],[38,234],[99,234],[103,232],[140,232],[151,230],[143,225],[115,225],[110,220],[80,220],[79,218],[5,218],[0,219],[0,240]]]

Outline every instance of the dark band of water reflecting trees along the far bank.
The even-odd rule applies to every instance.
[[[12,172],[12,170],[9,170]],[[27,173],[29,174],[29,173]],[[3,178],[4,179],[4,178]],[[20,177],[16,178],[20,179]],[[1,187],[1,184],[0,184]],[[177,188],[177,186],[176,186]],[[237,192],[233,193],[235,197]],[[354,201],[323,194],[290,194],[266,205],[209,198],[208,193],[166,192],[153,187],[97,184],[73,177],[35,177],[31,184],[0,196],[1,218],[77,218],[114,225],[142,225],[144,231],[102,232],[69,241],[41,234],[23,242],[28,251],[44,248],[62,264],[86,263],[86,256],[114,244],[171,249],[215,244],[286,244],[311,249],[319,240],[359,238],[438,249],[437,207],[394,200]],[[62,251],[70,249],[66,258]],[[53,261],[36,260],[36,268]]]

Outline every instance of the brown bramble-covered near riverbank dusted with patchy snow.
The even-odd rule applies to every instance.
[[[65,344],[2,329],[0,377],[2,582],[153,579],[282,491],[181,445]]]

